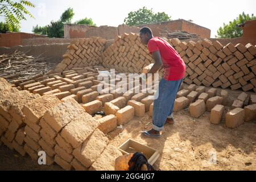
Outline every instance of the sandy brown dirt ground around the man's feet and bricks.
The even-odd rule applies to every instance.
[[[228,105],[241,91],[229,90]],[[225,112],[229,109],[226,107]],[[188,109],[174,113],[175,125],[166,125],[159,139],[144,138],[141,131],[151,129],[151,117],[134,118],[108,135],[110,143],[118,147],[127,139],[155,148],[160,157],[154,164],[165,170],[256,170],[256,121],[236,129],[228,129],[224,120],[220,125],[209,122],[209,113],[200,118],[189,116]],[[216,156],[216,163],[214,163]],[[213,160],[211,160],[213,159]],[[210,160],[213,163],[210,163]],[[7,147],[0,147],[0,170],[61,170],[54,166],[39,166]]]

